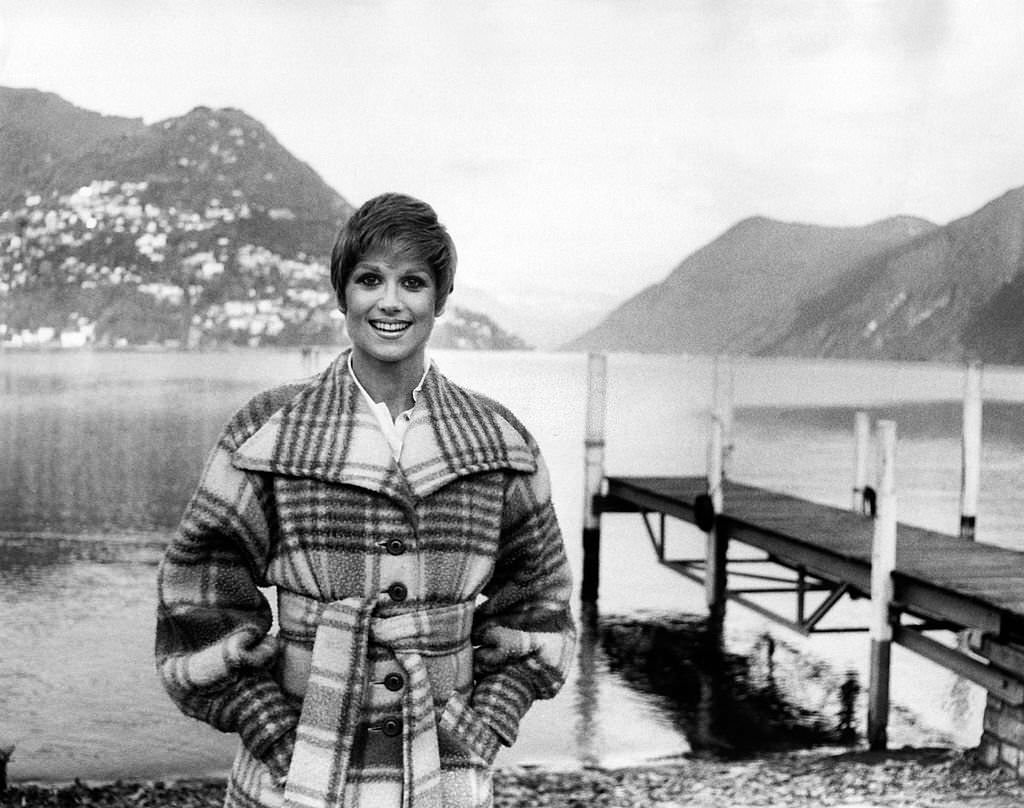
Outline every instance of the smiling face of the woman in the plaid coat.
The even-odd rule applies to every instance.
[[[391,252],[365,257],[345,285],[353,358],[394,370],[415,363],[422,372],[436,300],[437,285],[423,263]]]

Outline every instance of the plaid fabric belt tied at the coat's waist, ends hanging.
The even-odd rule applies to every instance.
[[[312,657],[286,808],[343,804],[352,745],[366,699],[371,643],[390,649],[406,674],[401,698],[402,808],[439,808],[440,756],[425,655],[452,653],[470,641],[473,604],[455,603],[375,614],[378,601],[324,603],[279,590],[279,620],[289,640],[312,640]],[[294,678],[295,672],[285,672]]]

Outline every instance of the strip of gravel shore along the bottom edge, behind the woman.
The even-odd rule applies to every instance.
[[[0,805],[214,808],[218,781],[22,784]],[[626,769],[499,769],[496,808],[1021,808],[1024,782],[977,766],[971,753],[805,752],[743,761],[680,759]]]

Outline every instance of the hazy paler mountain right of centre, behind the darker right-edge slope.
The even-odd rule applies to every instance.
[[[809,301],[865,262],[936,229],[907,216],[864,227],[744,219],[566,347],[760,353],[778,345]]]

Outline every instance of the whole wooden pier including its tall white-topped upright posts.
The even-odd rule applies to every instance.
[[[884,749],[887,742],[890,647],[895,642],[988,691],[982,759],[1024,777],[1024,552],[974,541],[981,455],[978,366],[967,372],[962,519],[955,536],[897,521],[896,425],[877,425],[880,474],[869,484],[868,427],[862,413],[855,425],[851,509],[727,478],[732,418],[727,377],[716,378],[707,475],[605,476],[600,355],[591,357],[591,381],[585,601],[598,597],[600,516],[639,513],[658,561],[703,586],[713,619],[723,616],[726,602],[734,601],[804,635],[869,632],[871,749]],[[693,557],[670,554],[668,518],[697,525],[706,536],[702,551]],[[837,626],[828,620],[844,599],[869,601],[864,625]],[[853,611],[863,614],[863,609]]]

